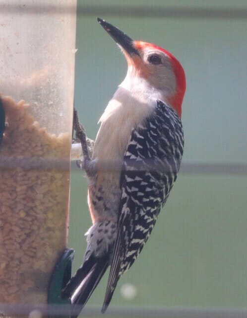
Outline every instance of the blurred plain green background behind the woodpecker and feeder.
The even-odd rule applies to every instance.
[[[133,39],[173,53],[187,80],[181,172],[151,238],[120,279],[111,306],[246,307],[247,1],[77,4],[75,105],[88,137],[95,139],[100,115],[126,73],[123,54],[97,16]],[[75,271],[91,226],[87,181],[75,166],[70,205]],[[89,305],[102,305],[107,278]]]

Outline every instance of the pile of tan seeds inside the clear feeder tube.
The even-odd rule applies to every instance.
[[[71,140],[41,128],[23,100],[0,98],[0,303],[44,303],[67,243]]]

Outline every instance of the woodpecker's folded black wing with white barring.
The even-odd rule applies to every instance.
[[[170,106],[157,100],[152,116],[133,129],[124,154],[117,240],[105,308],[119,277],[132,265],[150,236],[177,178],[183,148],[180,118]]]

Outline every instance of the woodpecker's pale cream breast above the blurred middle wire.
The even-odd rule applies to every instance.
[[[120,86],[100,118],[93,159],[123,159],[131,130],[152,112],[155,99],[133,95]]]

